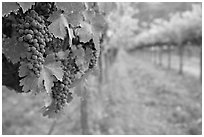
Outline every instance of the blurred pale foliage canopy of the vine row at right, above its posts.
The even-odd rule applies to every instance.
[[[140,33],[134,42],[136,46],[176,44],[187,42],[201,44],[201,6],[193,5],[191,11],[171,15],[170,20],[155,19],[150,29]]]

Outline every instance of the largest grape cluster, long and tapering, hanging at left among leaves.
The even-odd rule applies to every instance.
[[[46,43],[52,41],[53,35],[44,24],[44,17],[38,16],[34,10],[28,10],[24,18],[19,19],[16,29],[19,42],[24,42],[31,56],[27,56],[28,68],[39,77],[44,63]]]

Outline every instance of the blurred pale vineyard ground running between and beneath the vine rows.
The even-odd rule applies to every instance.
[[[140,54],[119,52],[104,84],[90,78],[90,134],[201,134],[202,94],[198,78],[156,66]],[[99,90],[100,88],[100,90]],[[3,134],[47,134],[41,96],[2,88]],[[81,134],[80,99],[75,97],[53,134]]]

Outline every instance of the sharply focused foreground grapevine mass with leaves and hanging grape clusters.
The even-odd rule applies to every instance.
[[[96,67],[96,14],[86,16],[90,9],[84,3],[35,2],[30,8],[20,4],[2,18],[3,65],[18,72],[14,80],[19,84],[3,84],[20,93],[46,93],[43,115],[53,117],[73,99],[73,87]],[[6,71],[10,69],[3,68],[3,76],[12,77]]]

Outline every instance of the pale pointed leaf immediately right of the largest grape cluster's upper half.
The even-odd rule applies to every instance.
[[[49,26],[48,29],[51,33],[54,34],[54,36],[64,39],[66,36],[66,28],[68,27],[67,19],[64,17],[63,14],[60,14]]]

